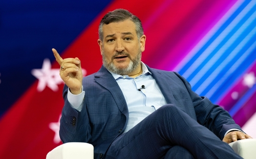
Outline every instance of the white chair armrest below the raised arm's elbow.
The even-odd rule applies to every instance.
[[[48,152],[46,159],[93,159],[93,150],[88,143],[65,143]]]

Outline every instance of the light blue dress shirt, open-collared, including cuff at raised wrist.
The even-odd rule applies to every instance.
[[[124,132],[129,131],[160,106],[167,104],[156,80],[148,71],[146,65],[141,62],[141,66],[142,74],[135,78],[110,72],[122,90],[129,110],[128,124]],[[144,88],[140,89],[142,85],[144,85]],[[78,111],[82,109],[84,94],[84,91],[79,95],[68,92],[68,101]]]

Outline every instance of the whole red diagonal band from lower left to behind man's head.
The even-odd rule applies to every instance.
[[[79,57],[87,74],[98,71],[102,63],[97,44],[98,25],[102,16],[116,8],[125,8],[145,19],[162,1],[151,2],[141,10],[141,6],[146,3],[147,1],[113,2],[61,54],[62,58]],[[59,68],[56,62],[53,67]],[[38,82],[32,84],[2,117],[0,158],[45,158],[50,150],[61,144],[53,142],[55,132],[49,128],[49,124],[58,122],[63,106],[63,84],[58,85],[57,92],[48,87],[38,92],[37,84]]]

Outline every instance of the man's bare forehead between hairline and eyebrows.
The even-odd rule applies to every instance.
[[[120,22],[111,22],[108,25],[102,26],[103,36],[122,34],[122,33],[132,33],[136,35],[136,27],[132,20],[127,19]]]

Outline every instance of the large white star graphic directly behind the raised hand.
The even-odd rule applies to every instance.
[[[63,83],[59,76],[59,69],[51,69],[51,62],[48,58],[42,63],[42,69],[33,69],[31,74],[39,80],[37,85],[38,92],[42,92],[46,86],[56,92],[58,84]],[[86,76],[87,71],[82,69],[82,74]]]

